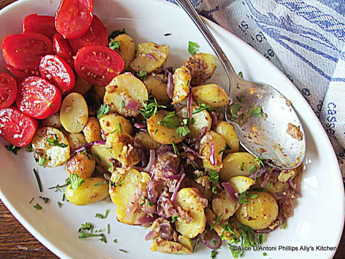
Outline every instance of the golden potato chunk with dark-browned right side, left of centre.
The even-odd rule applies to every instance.
[[[140,154],[134,147],[134,138],[128,133],[111,133],[107,136],[106,146],[110,147],[110,156],[123,166],[131,166],[140,162]]]

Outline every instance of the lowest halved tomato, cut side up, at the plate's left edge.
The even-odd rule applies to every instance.
[[[36,119],[17,107],[0,109],[0,136],[15,146],[29,145],[38,128]]]

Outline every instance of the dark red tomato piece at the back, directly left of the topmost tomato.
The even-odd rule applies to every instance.
[[[55,28],[55,17],[38,15],[37,13],[28,15],[23,22],[23,32],[41,33],[51,40],[58,33]]]

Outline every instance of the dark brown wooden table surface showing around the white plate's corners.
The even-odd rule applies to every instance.
[[[0,9],[14,1],[17,0],[0,0]],[[58,257],[34,238],[0,200],[0,258]],[[345,258],[345,231],[334,258]]]

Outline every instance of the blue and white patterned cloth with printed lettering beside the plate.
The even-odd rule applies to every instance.
[[[345,181],[345,0],[191,2],[295,84],[331,139]]]

